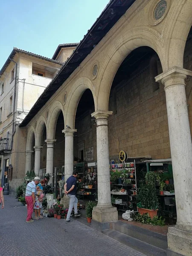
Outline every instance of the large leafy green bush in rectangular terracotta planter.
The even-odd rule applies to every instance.
[[[157,216],[159,207],[156,173],[147,172],[145,175],[145,184],[141,185],[137,193],[137,207],[140,214],[148,213],[151,218]]]

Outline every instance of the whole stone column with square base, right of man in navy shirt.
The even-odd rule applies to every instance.
[[[98,204],[93,208],[92,218],[93,221],[100,223],[118,220],[116,207],[112,207],[111,205],[108,143],[109,115],[112,115],[111,111],[96,111],[91,114],[91,116],[96,118],[98,180]],[[98,226],[96,222],[92,223],[95,227]]]

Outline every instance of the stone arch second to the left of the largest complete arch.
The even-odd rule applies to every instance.
[[[49,118],[47,120],[47,139],[54,139],[55,138],[55,129],[56,123],[59,116],[59,113],[62,111],[64,116],[64,108],[61,102],[57,101],[52,105],[52,108],[49,113]],[[65,123],[65,120],[64,120]]]

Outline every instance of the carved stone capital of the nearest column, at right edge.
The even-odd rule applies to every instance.
[[[155,77],[155,81],[161,81],[165,85],[165,89],[171,86],[186,86],[185,79],[186,76],[192,76],[192,71],[186,70],[181,67],[172,67],[166,72],[161,73]]]

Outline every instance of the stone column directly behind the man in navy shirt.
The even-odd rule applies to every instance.
[[[65,181],[73,174],[73,136],[76,131],[76,129],[70,128],[66,128],[62,131],[65,134]],[[64,195],[64,197],[61,198],[61,204],[64,205],[64,208],[69,208],[69,198],[67,195]]]

